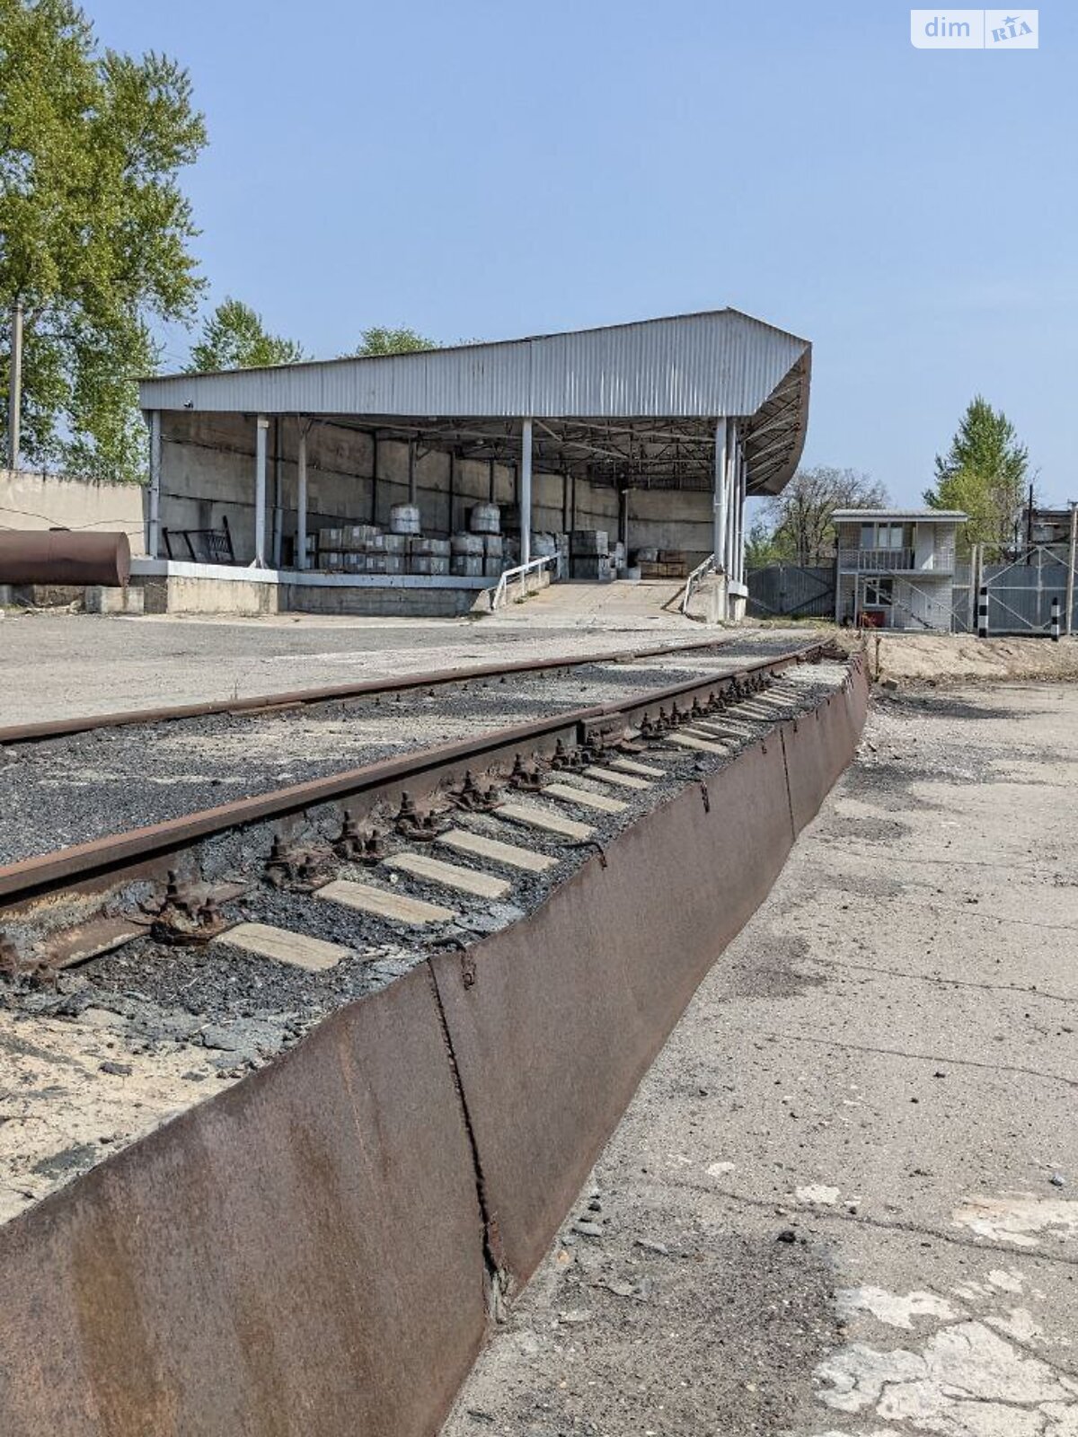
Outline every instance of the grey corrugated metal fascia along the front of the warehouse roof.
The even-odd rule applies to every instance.
[[[736,309],[407,355],[165,375],[144,410],[239,414],[752,415],[809,352]]]

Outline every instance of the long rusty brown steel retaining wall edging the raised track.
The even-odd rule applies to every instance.
[[[855,658],[532,917],[0,1229],[3,1437],[431,1437],[865,703]]]

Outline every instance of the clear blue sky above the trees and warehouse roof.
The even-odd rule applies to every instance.
[[[733,305],[814,342],[806,463],[916,500],[982,391],[1078,499],[1074,4],[1016,55],[890,0],[86,7],[191,70],[211,300],[315,355]]]

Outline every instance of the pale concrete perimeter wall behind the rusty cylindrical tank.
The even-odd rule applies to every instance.
[[[132,555],[147,552],[141,484],[101,484],[0,468],[0,529],[121,530]]]

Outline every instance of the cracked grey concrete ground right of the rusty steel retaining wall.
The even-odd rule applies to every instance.
[[[1078,688],[877,703],[444,1437],[1078,1437]]]

